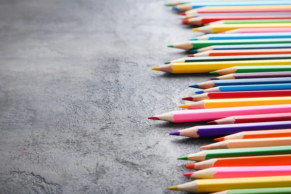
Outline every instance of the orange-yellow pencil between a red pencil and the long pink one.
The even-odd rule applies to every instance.
[[[214,109],[242,106],[264,106],[291,104],[291,97],[250,97],[250,98],[232,98],[232,99],[209,99],[201,100],[191,104],[179,105],[184,109]]]

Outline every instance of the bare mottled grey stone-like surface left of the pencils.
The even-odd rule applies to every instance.
[[[174,194],[211,141],[147,120],[207,74],[150,68],[194,37],[163,0],[0,1],[0,193]]]

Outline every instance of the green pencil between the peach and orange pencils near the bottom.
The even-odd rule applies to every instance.
[[[187,156],[178,157],[178,160],[205,161],[213,158],[232,158],[243,156],[266,156],[291,154],[291,146],[248,147],[233,149],[209,149]]]

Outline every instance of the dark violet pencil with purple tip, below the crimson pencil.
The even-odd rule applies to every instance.
[[[171,132],[170,135],[193,137],[193,138],[213,138],[231,135],[242,131],[270,130],[270,129],[290,129],[291,121],[276,121],[262,123],[242,123],[226,125],[205,125]]]

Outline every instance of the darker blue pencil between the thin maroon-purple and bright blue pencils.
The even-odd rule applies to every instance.
[[[238,80],[212,80],[205,81],[193,85],[192,88],[208,89],[218,86],[231,86],[231,85],[261,85],[261,84],[280,84],[291,83],[291,77],[286,78],[252,78],[252,79],[238,79]]]

